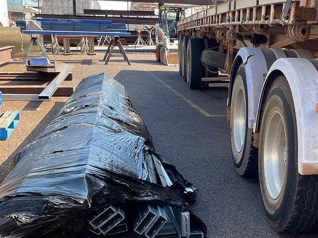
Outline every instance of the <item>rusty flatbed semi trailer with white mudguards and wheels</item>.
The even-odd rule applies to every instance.
[[[192,89],[228,87],[236,171],[277,232],[318,227],[318,1],[225,0],[178,22]]]

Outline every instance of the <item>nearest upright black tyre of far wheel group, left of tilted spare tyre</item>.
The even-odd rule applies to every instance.
[[[201,53],[203,50],[202,41],[199,38],[191,38],[186,50],[186,79],[189,88],[200,88],[202,81]]]

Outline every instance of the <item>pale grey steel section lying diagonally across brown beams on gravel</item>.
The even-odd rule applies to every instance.
[[[57,88],[66,79],[74,65],[66,65],[65,68],[56,76],[45,89],[39,94],[39,99],[50,99]]]

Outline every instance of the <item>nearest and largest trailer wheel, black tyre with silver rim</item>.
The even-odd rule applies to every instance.
[[[277,232],[305,233],[318,225],[318,176],[298,173],[295,106],[289,84],[277,75],[260,117],[259,183]]]

